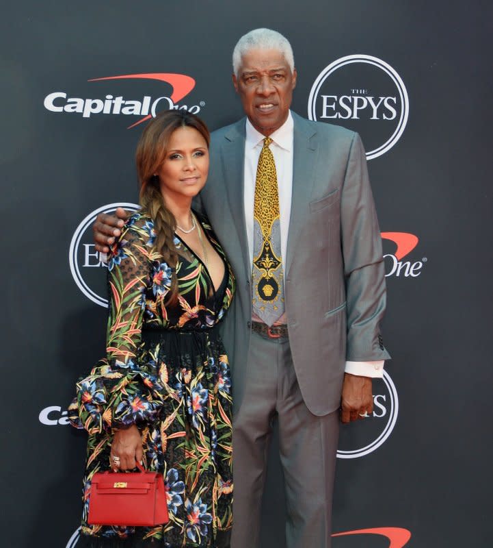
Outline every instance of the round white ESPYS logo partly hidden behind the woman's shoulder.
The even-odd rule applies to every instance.
[[[107,263],[105,255],[95,249],[92,225],[100,213],[114,213],[116,208],[136,211],[139,207],[135,203],[109,203],[102,206],[88,214],[72,236],[68,251],[70,271],[83,294],[99,306],[108,306],[108,300],[104,297],[107,292],[106,276],[101,273],[101,268],[106,268]]]

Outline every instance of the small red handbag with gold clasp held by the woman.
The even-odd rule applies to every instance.
[[[147,472],[98,472],[92,476],[90,525],[161,525],[168,523],[163,476]]]

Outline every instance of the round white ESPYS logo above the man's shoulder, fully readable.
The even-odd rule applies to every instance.
[[[408,92],[401,77],[371,55],[347,55],[326,66],[308,98],[308,118],[358,132],[367,147],[367,160],[395,145],[408,116]]]

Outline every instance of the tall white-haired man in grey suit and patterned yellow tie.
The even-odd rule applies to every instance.
[[[277,416],[287,547],[328,548],[339,414],[346,423],[371,413],[371,377],[382,376],[389,358],[379,334],[386,290],[366,158],[354,132],[289,110],[297,73],[284,36],[269,29],[246,34],[233,65],[246,118],[213,132],[209,182],[200,195],[237,277],[224,322],[235,406],[231,545],[258,545]],[[256,209],[265,149],[275,164],[278,203],[267,235]],[[107,234],[118,234],[116,226],[121,221],[98,218],[98,249]],[[278,265],[277,282],[266,258]],[[261,276],[271,276],[266,306],[255,301],[265,286],[252,275],[258,264]],[[272,284],[278,300],[264,320]]]

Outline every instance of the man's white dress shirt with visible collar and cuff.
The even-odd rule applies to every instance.
[[[258,132],[246,121],[245,138],[245,166],[244,166],[244,206],[245,223],[248,237],[248,252],[250,264],[253,262],[254,248],[254,197],[255,180],[263,139],[265,136]],[[289,219],[291,217],[291,196],[293,192],[293,116],[289,112],[284,124],[269,137],[272,139],[270,149],[276,163],[278,177],[278,195],[280,210],[281,254],[282,262],[286,258],[288,245]],[[285,269],[282,269],[285,275]],[[256,319],[256,318],[255,318]],[[287,323],[286,314],[282,314],[280,323]],[[375,362],[346,362],[345,372],[364,377],[382,377],[384,375],[384,360]]]

